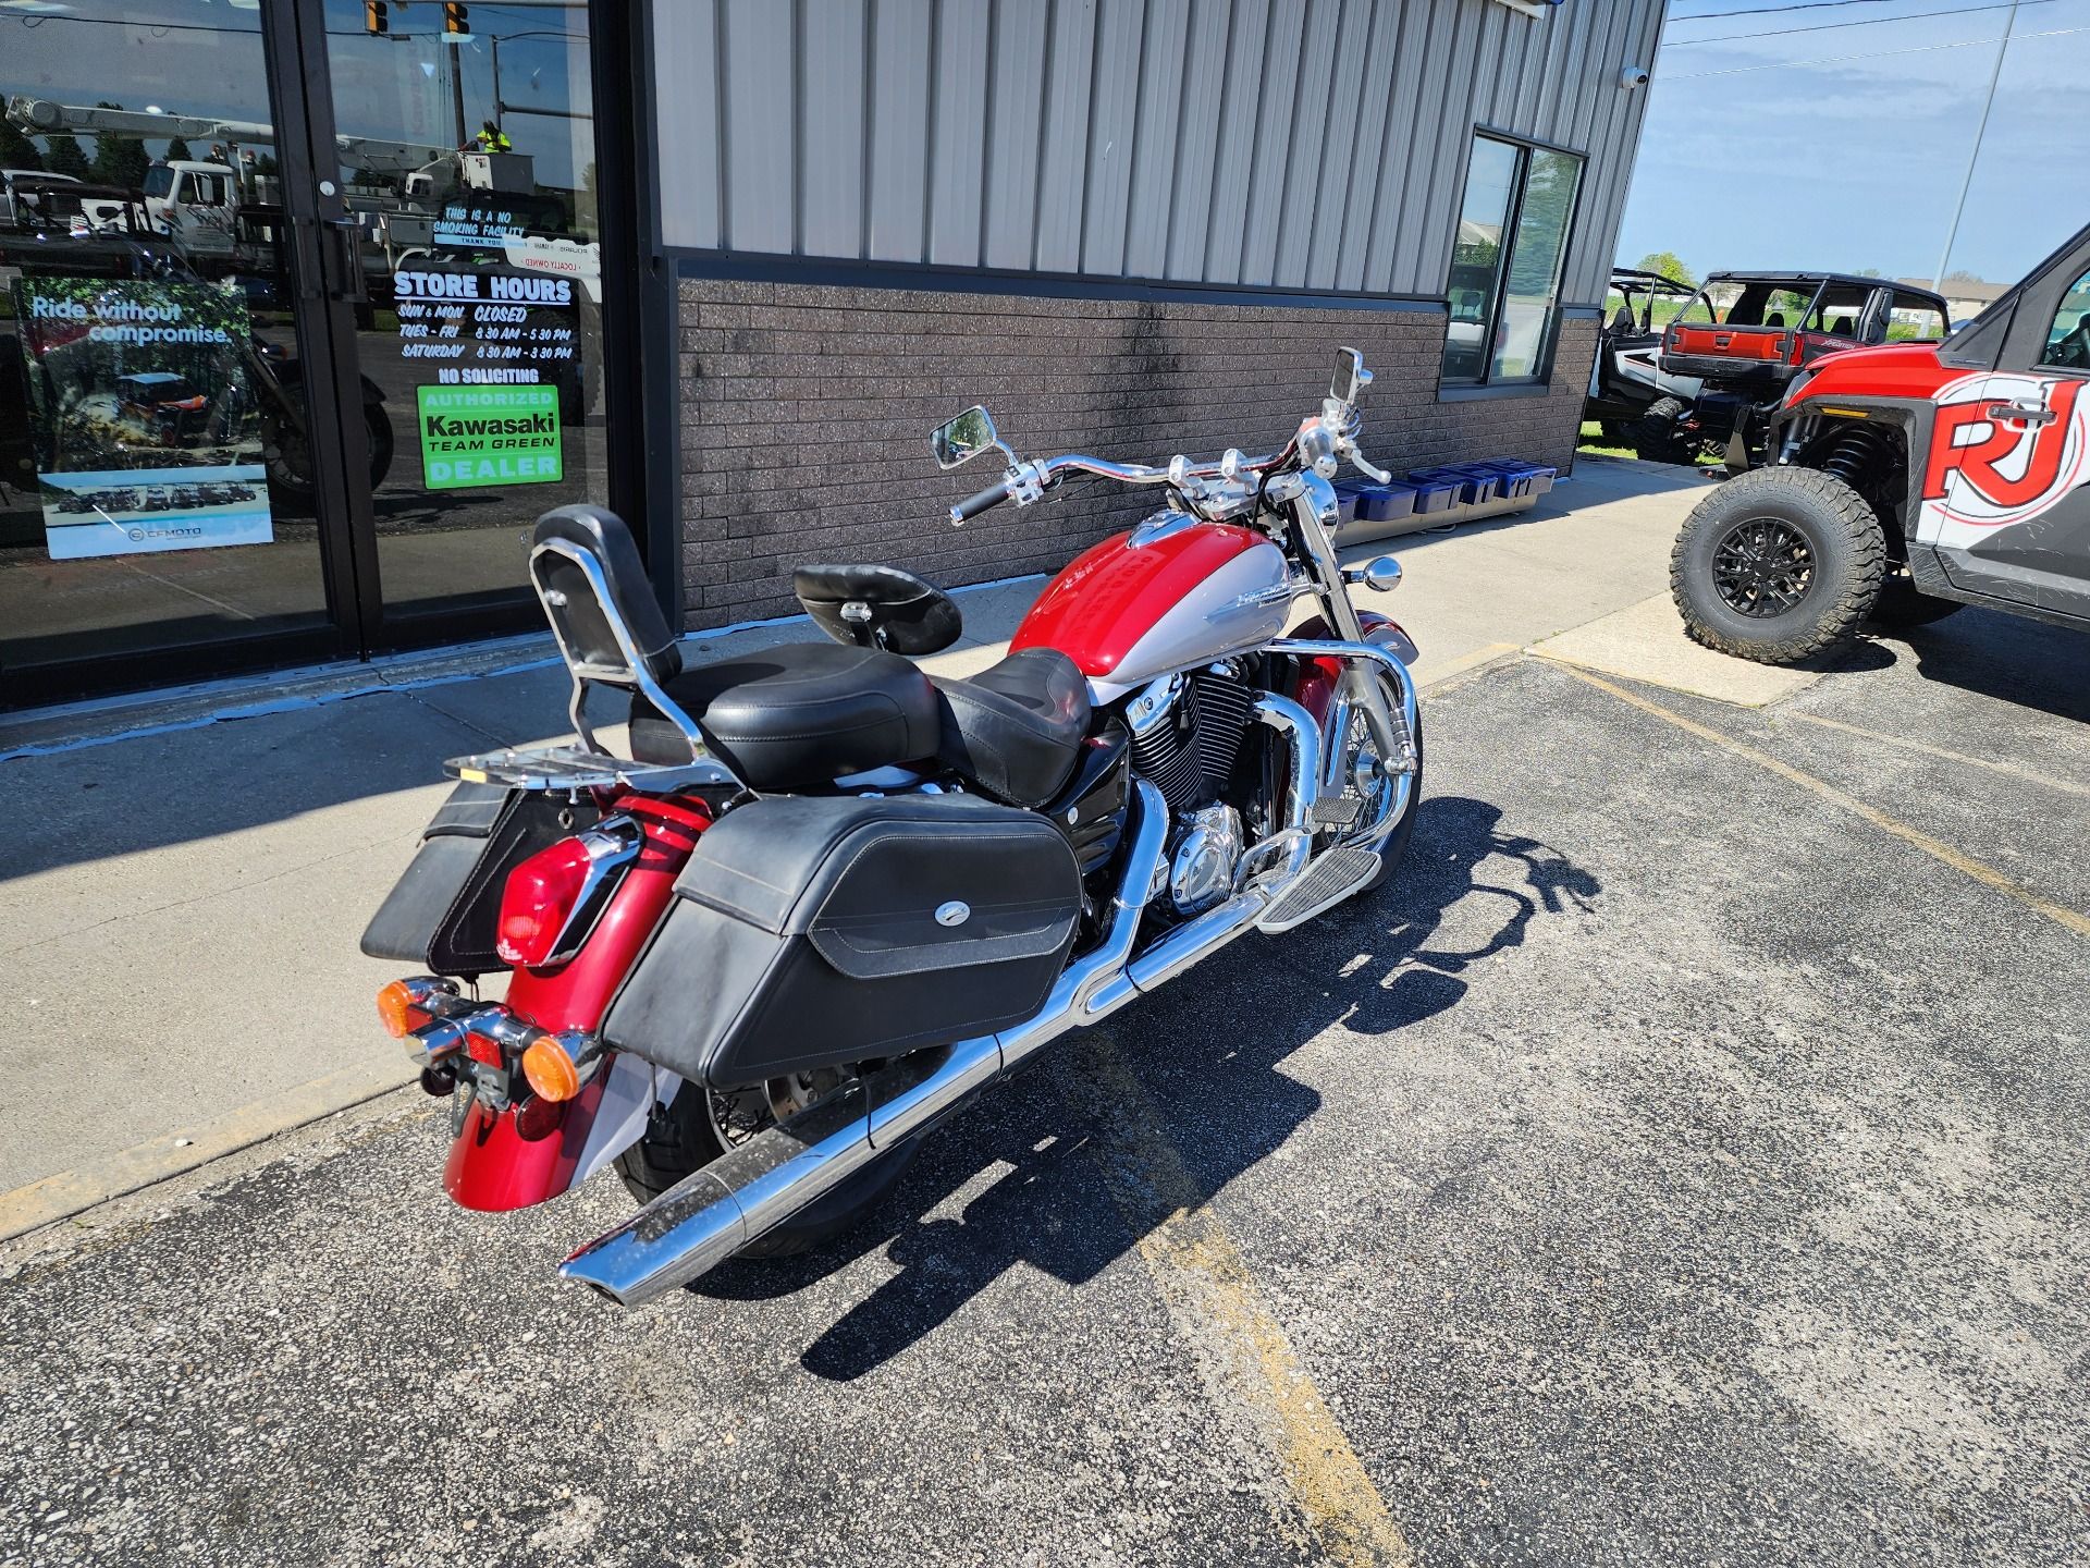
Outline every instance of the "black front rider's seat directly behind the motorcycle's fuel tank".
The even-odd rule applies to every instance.
[[[1009,805],[1060,792],[1089,734],[1089,682],[1058,648],[1024,648],[970,679],[934,682],[936,757]]]

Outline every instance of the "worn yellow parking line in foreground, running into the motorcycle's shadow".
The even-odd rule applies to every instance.
[[[1214,1399],[1244,1415],[1277,1461],[1323,1560],[1346,1568],[1413,1564],[1386,1499],[1264,1305],[1241,1250],[1204,1206],[1139,1079],[1101,1031],[1089,1035],[1081,1066],[1104,1091],[1099,1162],[1110,1196]],[[1093,1116],[1095,1106],[1083,1112]]]

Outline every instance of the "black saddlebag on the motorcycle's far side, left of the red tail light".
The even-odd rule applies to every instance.
[[[370,958],[431,974],[491,974],[508,872],[602,813],[585,797],[460,784],[420,830],[420,851],[364,930]]]

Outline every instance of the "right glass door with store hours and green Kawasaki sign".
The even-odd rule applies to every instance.
[[[387,454],[372,638],[533,627],[531,525],[608,502],[587,6],[324,0],[324,19],[366,276],[353,360]]]

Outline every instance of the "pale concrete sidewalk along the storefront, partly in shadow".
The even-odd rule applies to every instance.
[[[1662,594],[1703,487],[1584,458],[1534,512],[1356,554],[1402,558],[1386,606],[1430,686]],[[1041,587],[963,590],[966,640],[924,663],[993,663]],[[370,1012],[397,966],[355,939],[449,788],[441,759],[558,736],[564,707],[527,638],[0,725],[0,782],[33,803],[0,838],[0,1236],[405,1083]]]

